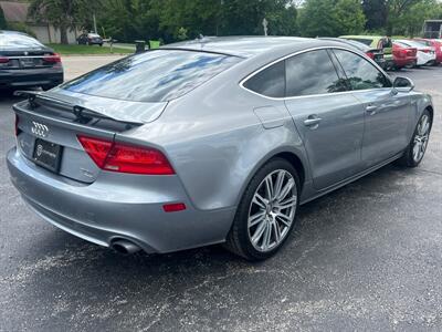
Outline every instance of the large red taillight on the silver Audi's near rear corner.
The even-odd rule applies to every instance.
[[[145,175],[175,174],[166,156],[158,149],[86,136],[78,136],[78,141],[102,169]]]

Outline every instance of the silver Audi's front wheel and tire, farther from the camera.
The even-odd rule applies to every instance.
[[[423,123],[425,123],[425,125]],[[418,121],[418,124],[415,125],[415,129],[413,136],[411,137],[410,144],[404,151],[402,157],[400,157],[397,160],[398,165],[404,167],[419,166],[427,152],[428,142],[430,139],[431,127],[432,127],[431,114],[428,110],[425,110],[423,111],[421,117]]]

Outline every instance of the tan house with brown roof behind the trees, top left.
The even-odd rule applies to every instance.
[[[29,3],[15,1],[0,1],[8,23],[24,24],[42,43],[60,43],[60,30],[46,22],[35,22],[28,17]],[[75,43],[80,31],[67,31],[67,40]]]

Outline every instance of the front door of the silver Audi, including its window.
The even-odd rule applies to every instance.
[[[410,96],[393,90],[390,79],[364,56],[338,49],[334,53],[354,95],[365,108],[362,163],[368,168],[394,156],[408,145]]]

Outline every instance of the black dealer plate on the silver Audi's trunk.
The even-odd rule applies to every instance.
[[[57,173],[62,157],[63,147],[41,138],[35,139],[32,159],[39,166]]]

